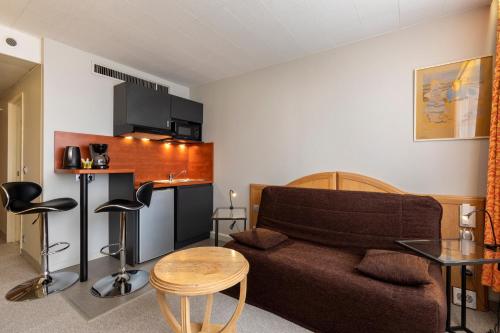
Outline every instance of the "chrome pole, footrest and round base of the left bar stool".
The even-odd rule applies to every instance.
[[[64,251],[69,247],[68,243],[59,242],[49,246],[48,233],[48,214],[42,213],[40,223],[40,240],[42,244],[41,269],[42,275],[26,281],[11,289],[5,298],[9,301],[26,301],[43,298],[50,294],[62,291],[78,281],[78,274],[73,272],[55,272],[49,271],[49,255]],[[65,245],[64,248],[50,252],[50,248],[58,245]]]

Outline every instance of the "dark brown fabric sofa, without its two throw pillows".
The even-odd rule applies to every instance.
[[[438,239],[441,215],[431,197],[267,187],[257,227],[289,239],[265,251],[235,241],[226,247],[250,263],[247,303],[314,332],[441,333],[446,293],[439,266],[429,266],[430,284],[416,287],[355,268],[367,249],[400,251],[395,240]]]

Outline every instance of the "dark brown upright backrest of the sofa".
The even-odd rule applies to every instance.
[[[442,207],[426,196],[269,186],[257,227],[335,247],[399,250],[400,239],[439,239]]]

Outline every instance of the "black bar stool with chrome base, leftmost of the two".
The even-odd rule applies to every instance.
[[[77,202],[71,198],[59,198],[40,203],[33,203],[42,193],[42,187],[32,182],[10,182],[2,184],[0,196],[5,209],[16,215],[39,214],[40,239],[42,243],[41,268],[42,275],[26,281],[11,289],[5,298],[9,301],[25,301],[37,299],[56,293],[72,286],[78,280],[78,274],[73,272],[49,271],[49,255],[62,252],[69,248],[68,242],[57,242],[49,245],[48,213],[62,212],[73,209]],[[36,219],[33,223],[35,223]],[[56,246],[59,249],[51,250]]]

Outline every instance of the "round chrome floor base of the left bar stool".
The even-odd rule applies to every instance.
[[[12,288],[7,292],[5,298],[12,302],[44,298],[71,287],[76,281],[78,281],[78,274],[73,272],[50,273],[49,279],[40,275]]]

